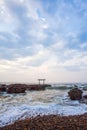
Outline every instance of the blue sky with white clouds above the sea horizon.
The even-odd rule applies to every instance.
[[[87,0],[0,0],[0,82],[87,82]]]

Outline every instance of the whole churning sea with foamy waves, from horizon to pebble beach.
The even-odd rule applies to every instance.
[[[0,127],[37,115],[68,116],[87,113],[86,104],[72,101],[68,96],[68,91],[76,85],[83,91],[83,95],[87,94],[87,83],[52,83],[45,90],[21,94],[1,92]]]

